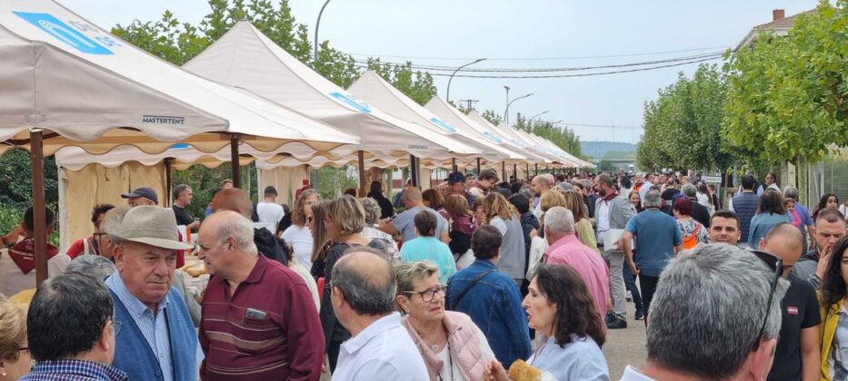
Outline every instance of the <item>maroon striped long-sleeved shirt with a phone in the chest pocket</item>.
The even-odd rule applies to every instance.
[[[248,308],[252,308],[248,312]],[[200,323],[204,380],[317,380],[324,333],[304,279],[259,259],[230,297],[224,278],[205,291]],[[264,316],[263,316],[264,314]]]

